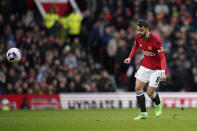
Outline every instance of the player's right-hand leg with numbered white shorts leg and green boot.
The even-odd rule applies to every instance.
[[[160,116],[162,114],[162,103],[159,98],[159,94],[156,92],[156,88],[159,85],[161,79],[161,71],[156,70],[154,71],[149,80],[149,86],[147,89],[148,96],[152,99],[152,101],[155,103],[155,112],[156,116]]]

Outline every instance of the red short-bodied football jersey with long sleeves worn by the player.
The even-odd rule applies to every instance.
[[[129,58],[132,59],[138,48],[140,48],[144,54],[144,58],[141,62],[142,66],[152,70],[165,70],[166,60],[159,36],[150,33],[150,37],[144,40],[136,35]]]

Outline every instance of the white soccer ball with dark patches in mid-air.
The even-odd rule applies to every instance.
[[[10,48],[7,51],[7,60],[11,63],[18,63],[21,60],[22,53],[18,48]]]

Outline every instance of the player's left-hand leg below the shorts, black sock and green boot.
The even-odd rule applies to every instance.
[[[137,117],[135,117],[135,120],[140,120],[140,119],[147,119],[148,114],[146,111],[146,104],[145,104],[145,96],[144,96],[144,86],[146,83],[140,81],[139,79],[136,79],[136,85],[135,85],[135,91],[136,91],[136,98],[137,98],[137,103],[140,107],[141,114],[139,114]]]

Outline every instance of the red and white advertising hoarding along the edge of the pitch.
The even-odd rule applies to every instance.
[[[197,93],[159,93],[165,108],[197,107]],[[27,99],[30,109],[95,109],[136,108],[135,93],[71,93],[55,95],[0,95],[0,108],[8,104],[11,109],[20,109]],[[146,95],[146,106],[153,103]]]

